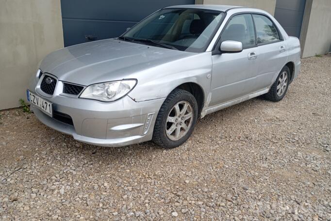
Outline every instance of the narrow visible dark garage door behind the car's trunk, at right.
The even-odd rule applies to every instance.
[[[300,37],[306,0],[277,0],[275,18],[290,36]]]

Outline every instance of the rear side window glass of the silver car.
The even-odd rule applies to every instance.
[[[280,40],[277,28],[268,17],[262,15],[253,15],[253,18],[255,22],[258,44]]]

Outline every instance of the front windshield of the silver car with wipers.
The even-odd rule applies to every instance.
[[[119,39],[173,50],[202,52],[213,37],[223,12],[163,9],[147,17]]]

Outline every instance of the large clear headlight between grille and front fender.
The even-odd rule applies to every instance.
[[[122,80],[89,85],[80,98],[113,102],[127,95],[137,84],[137,80]]]

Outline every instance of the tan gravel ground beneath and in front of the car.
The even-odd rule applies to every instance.
[[[206,116],[181,147],[82,144],[0,112],[2,220],[331,220],[331,57],[281,102]]]

